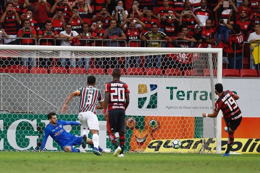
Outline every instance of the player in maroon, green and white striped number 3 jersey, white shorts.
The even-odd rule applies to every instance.
[[[95,88],[96,78],[94,76],[89,76],[87,79],[87,87],[81,87],[80,89],[73,91],[68,98],[66,99],[63,108],[61,110],[62,113],[66,113],[67,111],[67,103],[74,97],[80,96],[80,106],[79,106],[79,115],[78,118],[83,127],[83,139],[82,139],[82,147],[86,147],[86,139],[87,139],[87,129],[89,128],[92,133],[92,141],[93,141],[93,153],[101,156],[101,151],[110,152],[109,150],[103,150],[99,148],[99,137],[98,137],[98,117],[96,116],[96,109],[104,108],[104,100],[101,94],[101,91],[98,88]],[[99,106],[97,106],[97,102],[99,101]]]

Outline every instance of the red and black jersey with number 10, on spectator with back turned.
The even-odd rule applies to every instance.
[[[245,41],[245,37],[243,32],[240,32],[238,34],[232,34],[228,37],[227,41],[232,42],[232,48],[233,52],[230,53],[230,56],[233,54],[236,54],[236,56],[242,56],[243,54],[243,43],[241,44],[241,41]]]

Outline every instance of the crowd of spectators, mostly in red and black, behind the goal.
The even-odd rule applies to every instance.
[[[246,57],[249,68],[259,70],[254,63],[258,51],[244,43],[260,39],[259,0],[1,0],[0,15],[0,37],[9,38],[0,39],[0,44],[17,44],[16,37],[34,38],[19,40],[24,45],[207,48],[210,44],[223,48],[229,68],[242,69]],[[138,67],[141,61],[126,58],[131,61],[126,67]],[[61,66],[87,69],[90,60],[60,61]],[[110,61],[98,58],[96,64],[117,65],[113,58]],[[145,58],[146,67],[154,68],[163,62],[180,68],[183,61],[188,60],[167,55]],[[39,58],[36,63],[32,57],[20,64],[49,66],[51,62]]]

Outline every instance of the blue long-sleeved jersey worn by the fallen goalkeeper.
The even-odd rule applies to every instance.
[[[44,130],[44,139],[41,143],[40,150],[43,150],[43,148],[45,147],[49,135],[61,147],[65,146],[71,139],[74,138],[74,135],[66,132],[66,130],[63,129],[64,125],[80,125],[80,123],[75,121],[63,121],[63,120],[58,120],[55,126],[49,123]]]

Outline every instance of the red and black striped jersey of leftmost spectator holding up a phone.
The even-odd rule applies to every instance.
[[[6,14],[5,15],[5,20],[3,22],[5,24],[5,32],[7,35],[16,35],[17,30],[16,30],[16,20],[15,20],[15,14],[12,13],[11,15]]]

